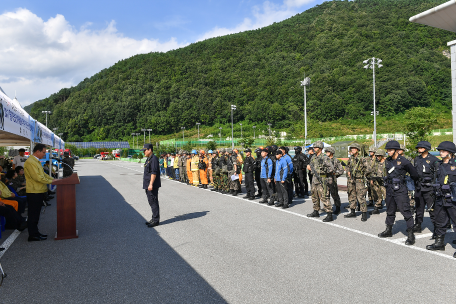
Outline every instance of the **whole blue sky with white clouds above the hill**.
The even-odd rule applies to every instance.
[[[22,106],[121,59],[257,29],[323,0],[1,0],[0,87]]]

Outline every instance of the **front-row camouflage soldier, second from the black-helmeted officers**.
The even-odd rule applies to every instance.
[[[362,212],[361,221],[367,221],[366,205],[366,174],[369,164],[366,158],[360,157],[361,146],[358,143],[350,145],[350,158],[347,162],[347,187],[348,201],[350,202],[350,213],[344,215],[346,218],[356,218],[356,204],[360,204]]]

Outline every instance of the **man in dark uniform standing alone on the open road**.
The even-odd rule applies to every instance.
[[[152,209],[152,219],[146,222],[146,225],[152,228],[160,224],[160,207],[158,206],[158,188],[161,187],[160,166],[158,158],[153,153],[152,144],[144,144],[141,152],[144,152],[147,157],[144,164],[143,189],[146,190],[147,200]]]

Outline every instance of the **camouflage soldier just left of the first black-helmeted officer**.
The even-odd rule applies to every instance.
[[[385,174],[386,153],[383,149],[377,149],[375,152],[375,161],[369,169],[369,184],[372,188],[372,198],[375,200],[374,211],[372,214],[379,214],[383,208],[382,201],[386,200],[386,188],[383,184]]]

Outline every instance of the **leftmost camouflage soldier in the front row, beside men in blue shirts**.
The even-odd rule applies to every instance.
[[[333,210],[331,205],[331,200],[329,198],[329,187],[326,184],[326,178],[328,175],[334,172],[334,166],[332,161],[328,156],[322,153],[323,143],[317,141],[313,144],[313,150],[315,152],[312,157],[309,165],[307,165],[307,170],[312,171],[312,202],[314,211],[311,214],[308,214],[308,217],[319,217],[320,213],[320,201],[323,203],[326,218],[323,219],[324,222],[333,221]]]

